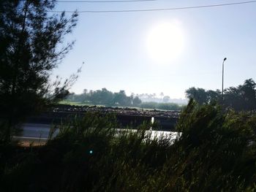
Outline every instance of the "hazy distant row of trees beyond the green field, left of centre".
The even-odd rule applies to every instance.
[[[67,101],[75,101],[91,104],[102,104],[106,106],[122,106],[122,107],[138,107],[141,100],[138,96],[127,96],[125,91],[113,93],[106,88],[97,91],[87,91],[86,89],[81,94],[71,93],[67,97]]]

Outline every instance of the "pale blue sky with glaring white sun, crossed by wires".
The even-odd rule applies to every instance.
[[[59,2],[55,10],[159,9],[238,1]],[[84,62],[71,89],[75,93],[107,88],[124,90],[127,95],[163,92],[172,99],[184,99],[186,89],[192,86],[221,90],[222,61],[227,57],[224,87],[241,85],[246,79],[256,80],[255,9],[256,3],[79,13],[78,26],[66,38],[67,42],[75,40],[75,45],[53,76],[69,77]]]

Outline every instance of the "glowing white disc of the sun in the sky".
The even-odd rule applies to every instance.
[[[183,31],[176,22],[159,23],[149,31],[146,47],[151,58],[160,63],[168,63],[183,50]]]

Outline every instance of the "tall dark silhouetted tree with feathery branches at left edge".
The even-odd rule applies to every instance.
[[[56,1],[0,1],[0,115],[7,124],[10,139],[15,123],[42,110],[49,101],[67,95],[67,88],[77,78],[50,85],[52,69],[72,48],[73,42],[60,46],[77,22],[77,13],[70,18],[48,11]],[[48,98],[46,98],[48,96]]]

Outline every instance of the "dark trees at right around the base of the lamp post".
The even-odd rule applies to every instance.
[[[236,111],[256,110],[256,83],[254,80],[245,80],[243,85],[230,87],[222,92],[208,90],[203,88],[189,88],[186,91],[188,99],[195,99],[198,104],[210,104],[217,102],[225,108],[232,108]]]

